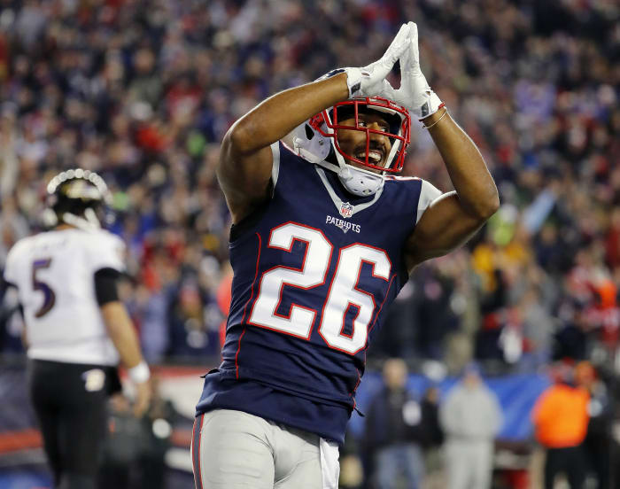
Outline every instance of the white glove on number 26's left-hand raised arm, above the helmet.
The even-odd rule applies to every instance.
[[[346,84],[349,87],[349,98],[353,97],[376,97],[384,91],[389,82],[385,77],[391,72],[396,60],[407,50],[411,25],[403,24],[399,33],[394,37],[390,47],[385,51],[381,59],[370,63],[363,68],[341,68],[337,73],[346,73]],[[333,74],[333,72],[332,72]]]

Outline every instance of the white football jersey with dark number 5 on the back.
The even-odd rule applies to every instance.
[[[125,270],[125,245],[103,229],[62,229],[20,239],[4,279],[17,286],[24,308],[27,355],[68,363],[116,365],[95,295],[95,272]]]

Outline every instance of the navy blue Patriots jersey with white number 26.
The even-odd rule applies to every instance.
[[[283,144],[272,152],[273,198],[231,230],[223,361],[197,412],[238,409],[342,443],[368,344],[407,282],[422,180],[357,198]]]

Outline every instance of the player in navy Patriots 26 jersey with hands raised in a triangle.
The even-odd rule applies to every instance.
[[[393,89],[385,77],[397,59]],[[456,191],[396,176],[410,113]],[[196,485],[337,487],[369,340],[415,266],[497,210],[497,189],[420,71],[413,22],[375,63],[285,90],[237,120],[218,178],[234,278],[223,361],[197,407]]]

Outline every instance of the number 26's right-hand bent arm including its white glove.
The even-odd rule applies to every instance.
[[[423,260],[465,243],[495,213],[500,199],[480,151],[452,120],[422,74],[418,30],[410,24],[407,50],[400,57],[400,88],[389,86],[385,91],[428,128],[455,189],[430,204],[407,240],[405,259],[412,270]]]

